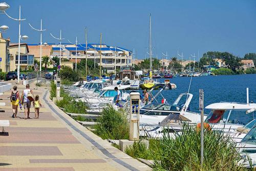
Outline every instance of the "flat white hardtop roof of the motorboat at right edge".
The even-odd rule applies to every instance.
[[[205,107],[211,110],[250,110],[256,109],[256,103],[234,103],[234,102],[220,102],[212,103]]]

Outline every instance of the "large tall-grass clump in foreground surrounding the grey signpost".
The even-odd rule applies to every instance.
[[[184,125],[175,138],[164,134],[157,143],[154,170],[201,170],[200,132]],[[204,164],[202,170],[244,170],[238,161],[244,161],[236,149],[236,142],[221,132],[206,131],[204,134]]]

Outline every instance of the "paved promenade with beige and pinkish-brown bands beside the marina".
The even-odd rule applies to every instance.
[[[31,86],[42,103],[39,119],[34,118],[33,105],[31,119],[24,119],[24,109],[18,109],[17,118],[12,118],[7,99],[11,91],[0,96],[6,102],[0,119],[10,120],[10,127],[0,134],[0,171],[151,170],[56,108],[49,99],[49,88],[35,88]],[[18,86],[20,94],[24,89]]]

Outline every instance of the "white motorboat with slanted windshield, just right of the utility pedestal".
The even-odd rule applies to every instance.
[[[172,104],[152,102],[140,109],[140,135],[161,138],[163,131],[179,132],[183,123],[196,125],[201,115],[189,111],[193,94],[182,93]],[[204,116],[206,118],[206,116]]]

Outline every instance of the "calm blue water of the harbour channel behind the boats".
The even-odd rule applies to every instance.
[[[159,79],[164,82],[164,78]],[[176,77],[170,79],[177,85],[176,90],[164,90],[162,95],[169,103],[181,94],[188,91],[190,77]],[[256,103],[256,74],[243,75],[222,75],[222,76],[201,76],[193,77],[191,81],[189,93],[193,94],[190,102],[190,111],[199,112],[199,89],[204,90],[204,106],[208,104],[228,101],[228,102],[244,102],[246,103],[246,88],[249,88],[249,101]],[[156,94],[158,90],[154,90]],[[160,100],[161,97],[159,96]],[[209,111],[205,110],[205,114]]]

